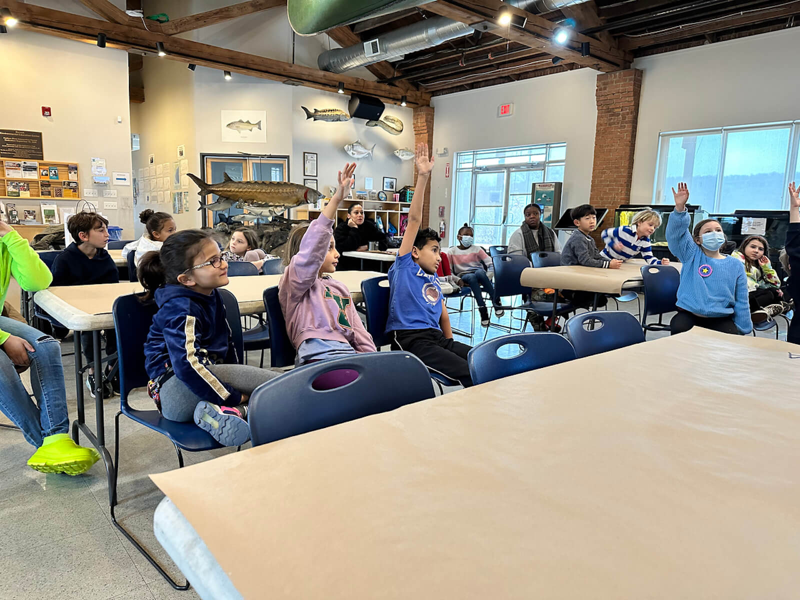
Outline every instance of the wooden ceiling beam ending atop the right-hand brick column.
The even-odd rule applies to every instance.
[[[626,69],[630,66],[632,60],[630,54],[615,48],[609,48],[598,39],[590,38],[586,35],[572,34],[570,44],[590,42],[590,56],[581,56],[580,50],[575,50],[569,45],[560,46],[556,44],[553,42],[552,37],[558,24],[541,18],[536,14],[515,9],[514,13],[526,15],[527,23],[525,29],[514,26],[499,26],[496,18],[503,6],[509,5],[504,4],[502,0],[438,0],[437,2],[423,5],[426,11],[441,14],[444,17],[452,18],[467,25],[488,22],[490,23],[490,32],[492,34],[529,46],[534,50],[541,50],[548,54],[560,56],[565,61],[574,62],[580,66],[588,66],[604,72]]]

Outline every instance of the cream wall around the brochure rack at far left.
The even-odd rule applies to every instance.
[[[93,186],[91,174],[92,157],[106,158],[109,177],[112,171],[131,172],[127,53],[14,29],[2,36],[0,56],[0,81],[6,82],[0,127],[41,131],[45,160],[78,162],[80,197],[87,188],[98,190],[100,197],[89,199],[112,225],[126,230],[123,236],[132,234],[133,188]],[[64,66],[58,74],[43,70],[54,61]],[[50,106],[53,116],[42,117],[42,106]],[[102,206],[103,189],[117,190],[118,198],[109,198],[117,210]],[[39,202],[30,201],[30,207],[38,209]],[[27,206],[22,199],[16,204]]]

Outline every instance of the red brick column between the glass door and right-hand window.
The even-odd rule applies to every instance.
[[[598,120],[589,203],[598,209],[607,208],[610,213],[593,234],[600,248],[600,232],[614,225],[614,209],[630,202],[641,90],[641,70],[598,75]]]

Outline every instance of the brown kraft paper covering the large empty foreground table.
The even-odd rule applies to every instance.
[[[797,598],[794,350],[694,328],[151,477],[245,598]]]

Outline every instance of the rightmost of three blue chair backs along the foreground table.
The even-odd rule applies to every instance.
[[[564,330],[578,358],[645,341],[645,334],[636,317],[624,310],[576,314],[567,319]]]

